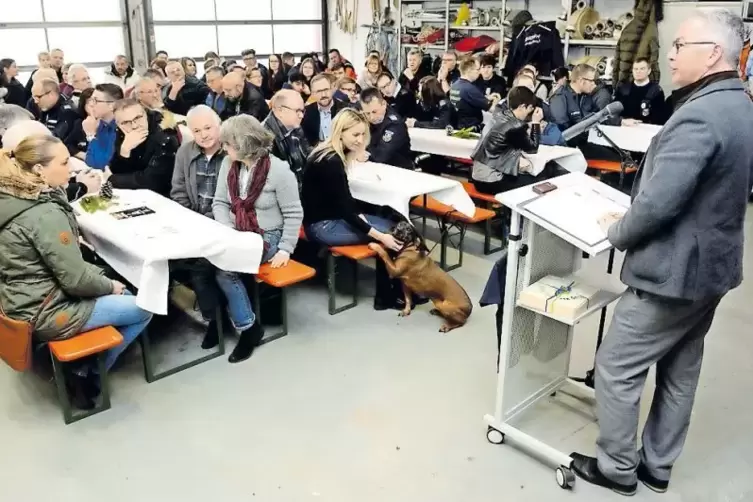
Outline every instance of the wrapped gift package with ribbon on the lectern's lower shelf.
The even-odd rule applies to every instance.
[[[548,275],[521,291],[518,303],[557,317],[575,319],[588,309],[597,292],[598,289],[574,277]]]

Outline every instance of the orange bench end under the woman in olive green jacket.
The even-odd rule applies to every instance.
[[[110,409],[110,389],[107,381],[105,354],[107,350],[117,347],[121,343],[123,343],[123,336],[120,332],[112,326],[105,326],[78,334],[67,340],[48,344],[52,356],[52,368],[55,372],[55,386],[57,387],[60,405],[63,408],[63,419],[66,425]],[[74,413],[65,387],[62,363],[78,361],[95,354],[97,355],[99,378],[102,386],[102,402],[91,410]]]

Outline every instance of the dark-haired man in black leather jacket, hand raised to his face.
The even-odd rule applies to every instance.
[[[507,104],[471,155],[473,185],[479,192],[494,195],[535,179],[526,174],[531,162],[523,154],[538,151],[544,112],[527,87],[513,87]]]

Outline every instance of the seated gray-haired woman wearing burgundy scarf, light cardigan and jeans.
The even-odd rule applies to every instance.
[[[270,155],[272,134],[250,115],[222,124],[220,132],[227,157],[222,161],[212,209],[214,219],[240,232],[260,234],[264,241],[262,263],[284,267],[298,243],[303,209],[298,183],[288,166]],[[251,357],[264,337],[264,329],[239,274],[218,271],[217,281],[227,298],[230,318],[241,332],[229,361]]]

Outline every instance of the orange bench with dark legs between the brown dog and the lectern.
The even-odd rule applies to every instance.
[[[427,195],[419,196],[411,200],[411,206],[429,212],[437,217],[440,225],[442,239],[440,243],[439,265],[442,269],[450,271],[463,266],[463,241],[465,240],[466,226],[469,224],[484,223],[496,216],[494,211],[477,207],[473,216],[467,216],[456,211],[452,206],[442,204],[433,197]],[[426,215],[423,215],[423,231],[426,232]],[[450,235],[450,228],[457,228],[457,232]],[[458,244],[453,247],[458,250],[458,262],[454,265],[447,266],[447,245],[452,245],[452,237],[458,236]]]

